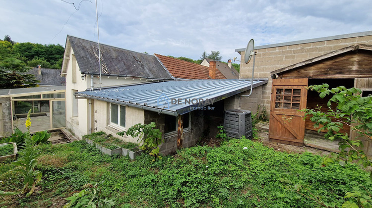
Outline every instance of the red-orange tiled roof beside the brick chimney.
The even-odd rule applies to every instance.
[[[209,77],[209,67],[165,55],[155,54],[155,56],[159,58],[172,76],[176,78],[211,79]],[[216,70],[216,79],[226,79],[226,77],[219,70]]]

